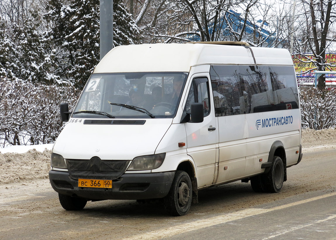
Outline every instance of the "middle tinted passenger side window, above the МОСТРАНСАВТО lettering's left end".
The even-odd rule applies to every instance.
[[[239,66],[245,91],[240,99],[240,110],[244,113],[273,110],[273,94],[268,66]]]

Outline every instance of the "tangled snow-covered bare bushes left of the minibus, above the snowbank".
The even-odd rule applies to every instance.
[[[59,105],[73,108],[79,91],[72,85],[44,85],[0,79],[0,144],[52,143],[63,124]]]

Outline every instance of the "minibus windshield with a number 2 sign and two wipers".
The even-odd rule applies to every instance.
[[[73,118],[173,118],[185,72],[96,73],[88,80]]]

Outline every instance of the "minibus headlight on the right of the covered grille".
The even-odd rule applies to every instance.
[[[131,165],[128,167],[128,171],[138,171],[138,170],[151,170],[156,169],[161,166],[166,154],[154,154],[140,156],[133,159]]]

